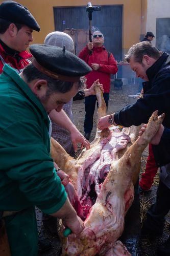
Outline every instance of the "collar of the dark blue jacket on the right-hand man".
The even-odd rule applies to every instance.
[[[152,79],[155,77],[155,75],[159,72],[161,69],[161,66],[165,62],[169,55],[164,52],[159,59],[155,61],[155,63],[146,71],[146,74],[148,76],[149,81],[152,81]]]

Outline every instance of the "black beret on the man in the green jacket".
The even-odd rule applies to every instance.
[[[30,46],[33,65],[41,73],[62,81],[78,81],[92,69],[75,54],[57,46],[35,44]]]

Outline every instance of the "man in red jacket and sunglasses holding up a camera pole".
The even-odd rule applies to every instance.
[[[110,75],[117,73],[117,65],[113,54],[108,52],[103,44],[103,34],[100,31],[95,31],[92,35],[92,42],[88,42],[87,46],[80,52],[79,57],[92,68],[92,72],[86,75],[87,89],[90,88],[91,84],[99,78],[100,83],[103,84],[103,96],[106,106],[108,107]],[[84,136],[87,140],[89,140],[93,128],[95,102],[95,95],[90,95],[85,98],[86,115],[84,120]]]

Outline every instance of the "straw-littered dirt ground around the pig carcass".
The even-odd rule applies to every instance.
[[[134,95],[139,92],[139,86],[137,84],[132,84],[130,86],[123,86],[122,90],[113,89],[113,86],[111,87],[111,93],[110,93],[110,99],[108,104],[108,114],[113,113],[115,111],[118,111],[122,109],[126,104],[129,103],[129,97],[128,95]],[[97,110],[96,110],[97,111]],[[94,139],[95,132],[96,132],[96,117],[97,112],[94,113],[94,119],[93,119],[93,131],[91,133],[90,141]],[[75,101],[72,106],[72,113],[74,115],[74,123],[77,126],[78,130],[84,134],[84,100]],[[142,156],[142,166],[141,166],[141,172],[143,172],[145,168],[145,163],[147,161],[148,156],[148,150],[146,149]],[[155,178],[154,185],[152,187],[152,190],[148,192],[145,195],[140,195],[140,219],[141,222],[145,219],[146,211],[151,206],[152,203],[156,200],[156,190],[157,185],[159,181],[159,175]],[[38,220],[38,232],[39,237],[46,238],[48,241],[52,244],[52,250],[44,253],[39,253],[41,256],[47,256],[47,255],[60,255],[60,242],[58,239],[58,236],[51,236],[50,233],[48,233],[44,228],[42,224],[42,214],[37,209],[37,220]],[[135,254],[132,256],[156,256],[156,250],[157,246],[162,244],[168,237],[169,231],[168,231],[168,225],[170,218],[167,216],[166,223],[165,223],[165,229],[163,236],[159,238],[158,240],[150,241],[148,238],[140,239],[140,253]]]

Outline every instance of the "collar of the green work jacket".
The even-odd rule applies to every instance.
[[[23,81],[23,79],[19,76],[19,74],[11,68],[9,65],[5,64],[3,68],[3,75],[6,75],[10,77],[16,84],[17,87],[25,94],[27,98],[32,102],[33,105],[36,105],[37,109],[39,110],[40,114],[42,115],[43,120],[47,122],[47,124],[50,124],[50,120],[48,118],[48,115],[41,104],[40,100],[36,97],[36,95],[31,91],[30,87],[28,84]]]

